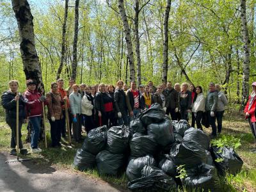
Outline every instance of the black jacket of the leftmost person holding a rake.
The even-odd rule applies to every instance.
[[[6,119],[7,118],[16,118],[16,101],[14,100],[16,94],[11,91],[6,91],[1,97],[1,104],[5,109]],[[23,119],[26,116],[25,112],[25,102],[22,95],[19,93],[19,119]]]

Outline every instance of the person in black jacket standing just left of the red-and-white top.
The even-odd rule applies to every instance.
[[[123,81],[118,81],[116,83],[116,90],[114,94],[114,103],[115,109],[117,111],[118,116],[118,125],[129,125],[129,119],[127,114],[127,103],[126,103],[126,95],[124,90],[122,90],[124,86]]]

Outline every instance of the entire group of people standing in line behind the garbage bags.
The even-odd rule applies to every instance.
[[[19,83],[12,80],[10,89],[2,95],[2,106],[6,109],[6,122],[12,129],[11,154],[16,150],[16,102],[19,101],[19,138],[21,138],[21,126],[24,120],[29,120],[33,127],[31,134],[31,152],[37,153],[40,134],[40,122],[42,118],[43,103],[47,106],[47,118],[51,125],[51,146],[61,146],[61,136],[66,137],[66,119],[69,119],[70,135],[75,142],[82,139],[81,132],[84,127],[89,132],[95,127],[107,125],[129,125],[143,109],[150,108],[154,103],[160,104],[166,115],[172,120],[188,120],[191,116],[191,126],[202,129],[212,127],[211,136],[220,134],[222,129],[222,117],[227,106],[227,97],[221,92],[219,84],[209,83],[206,96],[201,86],[193,84],[172,83],[168,81],[157,87],[150,81],[146,86],[137,87],[132,81],[130,88],[123,81],[118,81],[115,86],[100,83],[95,86],[78,85],[74,79],[69,80],[69,86],[65,90],[64,80],[58,79],[51,83],[51,91],[46,97],[36,89],[36,82],[29,79],[26,82],[27,90],[22,95],[17,92]],[[255,95],[256,83],[253,84],[253,93],[250,95],[245,113],[250,118],[250,125],[255,136]],[[68,110],[68,112],[67,112]],[[66,116],[68,114],[68,116]],[[216,126],[217,120],[217,126]],[[21,140],[19,140],[21,154],[26,154]]]

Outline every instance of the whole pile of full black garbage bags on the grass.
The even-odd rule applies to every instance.
[[[170,120],[159,104],[141,111],[129,127],[92,129],[73,164],[81,171],[97,168],[104,175],[125,172],[132,191],[175,191],[179,186],[218,191],[219,175],[236,174],[242,165],[232,148],[210,147],[203,131],[186,120]],[[184,177],[179,166],[186,172]]]

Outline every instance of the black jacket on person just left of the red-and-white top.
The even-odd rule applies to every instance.
[[[117,112],[127,113],[126,95],[124,90],[115,90],[114,103]]]

